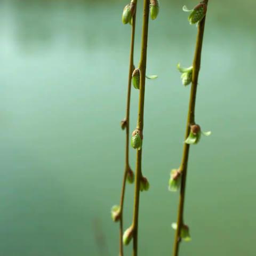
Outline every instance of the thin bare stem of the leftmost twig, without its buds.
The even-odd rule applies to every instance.
[[[134,1],[137,4],[137,1]],[[125,194],[125,185],[127,172],[130,170],[129,165],[129,133],[130,133],[130,101],[131,101],[131,82],[132,82],[132,73],[134,70],[133,65],[133,54],[134,54],[134,37],[135,37],[135,24],[136,24],[136,9],[132,18],[132,33],[131,33],[131,51],[130,51],[130,65],[129,65],[129,75],[128,75],[128,86],[127,86],[127,102],[126,102],[126,141],[125,141],[125,169],[124,177],[121,190],[121,199],[120,199],[120,219],[119,219],[119,256],[124,255],[123,250],[123,209],[124,209],[124,194]]]

